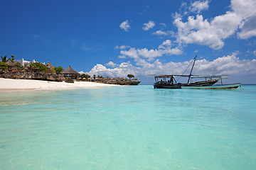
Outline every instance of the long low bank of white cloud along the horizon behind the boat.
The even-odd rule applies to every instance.
[[[87,74],[103,75],[105,77],[127,77],[127,74],[134,74],[135,77],[144,79],[143,77],[148,74],[182,74],[192,61],[161,63],[159,60],[155,60],[150,63],[143,60],[143,64],[140,67],[134,67],[130,62],[122,62],[121,64],[116,64],[116,67],[113,69],[107,69],[102,64],[96,64]],[[188,72],[185,74],[189,74]],[[230,78],[240,78],[244,75],[246,77],[255,77],[256,60],[240,60],[237,57],[237,53],[218,57],[213,61],[197,60],[193,74],[230,74]],[[239,81],[243,80],[245,79],[240,79]],[[154,78],[151,81],[153,83]]]

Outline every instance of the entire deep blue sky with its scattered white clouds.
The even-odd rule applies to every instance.
[[[256,84],[255,0],[0,0],[0,55],[104,77],[228,74]],[[189,74],[189,69],[185,74]]]

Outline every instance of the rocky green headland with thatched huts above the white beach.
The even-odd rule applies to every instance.
[[[92,81],[104,84],[120,84],[120,85],[137,85],[140,83],[134,78],[134,75],[127,74],[126,78],[110,78],[103,77],[102,75],[93,75],[92,78],[89,74],[79,74],[70,66],[67,69],[63,67],[53,67],[50,62],[44,64],[41,62],[28,62],[23,63],[23,60],[14,60],[14,55],[10,58],[1,56],[0,62],[0,77],[7,79],[40,79],[50,81],[65,81],[73,83],[76,81]],[[22,61],[22,62],[21,62]]]

